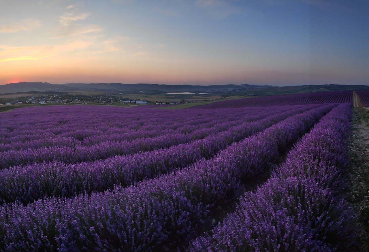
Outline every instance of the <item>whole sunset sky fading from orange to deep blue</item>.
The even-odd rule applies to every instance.
[[[368,0],[0,0],[0,84],[369,85]]]

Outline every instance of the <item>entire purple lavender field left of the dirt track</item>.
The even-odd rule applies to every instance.
[[[353,251],[351,102],[0,113],[0,250]]]

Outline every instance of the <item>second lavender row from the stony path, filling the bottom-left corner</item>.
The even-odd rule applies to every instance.
[[[163,244],[188,240],[217,203],[237,194],[242,179],[262,174],[279,147],[290,146],[332,106],[295,115],[208,161],[136,186],[1,206],[0,249],[159,251]]]

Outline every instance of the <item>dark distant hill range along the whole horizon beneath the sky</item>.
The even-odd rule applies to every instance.
[[[225,93],[228,95],[276,95],[294,94],[305,92],[322,91],[345,91],[345,90],[369,90],[366,85],[300,85],[275,87],[271,85],[163,85],[163,84],[122,84],[122,83],[68,83],[50,84],[46,82],[23,82],[0,85],[0,94],[29,92],[29,91],[102,91],[102,92],[146,92],[151,94],[163,94],[165,92],[199,92],[199,93]]]

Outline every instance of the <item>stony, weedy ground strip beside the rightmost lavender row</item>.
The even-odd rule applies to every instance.
[[[358,215],[360,251],[369,251],[369,110],[353,108],[349,199]]]

